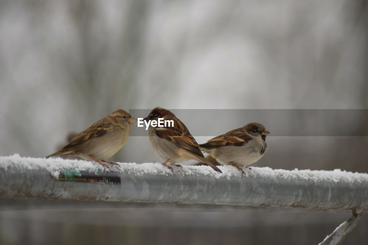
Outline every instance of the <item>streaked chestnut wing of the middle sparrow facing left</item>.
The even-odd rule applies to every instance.
[[[155,133],[160,138],[164,138],[199,156],[203,156],[197,141],[195,141],[188,128],[180,120],[174,120],[174,127],[155,128]]]

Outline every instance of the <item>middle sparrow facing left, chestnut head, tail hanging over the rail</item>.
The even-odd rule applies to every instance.
[[[145,121],[158,120],[158,118],[163,118],[163,120],[173,120],[173,126],[171,124],[166,125],[166,127],[153,127],[150,124],[148,128],[149,141],[151,142],[153,150],[157,155],[165,159],[163,165],[170,162],[175,163],[194,159],[197,161],[202,161],[207,165],[211,166],[217,172],[221,172],[219,168],[213,165],[210,161],[205,159],[203,153],[199,149],[197,141],[188,131],[188,128],[169,110],[163,109],[161,107],[156,107],[149,113],[148,117],[143,118]],[[180,166],[180,165],[176,165]],[[172,169],[170,166],[167,166]]]

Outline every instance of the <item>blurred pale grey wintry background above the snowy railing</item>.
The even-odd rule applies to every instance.
[[[47,156],[119,108],[368,109],[365,1],[0,3],[3,156]],[[180,119],[211,136],[256,120]],[[367,137],[276,137],[258,123],[271,131],[259,166],[367,171],[347,163],[367,160]],[[147,137],[113,160],[162,161]]]

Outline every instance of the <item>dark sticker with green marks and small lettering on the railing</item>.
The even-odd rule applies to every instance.
[[[61,181],[120,185],[120,174],[116,171],[64,170],[60,171],[57,179]]]

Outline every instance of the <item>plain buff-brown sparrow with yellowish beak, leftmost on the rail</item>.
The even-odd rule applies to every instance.
[[[112,157],[123,147],[128,140],[132,123],[135,121],[137,119],[122,109],[114,111],[79,133],[63,149],[46,158],[79,156],[85,160],[95,160],[109,168],[107,164],[101,161],[106,162],[103,159]]]

